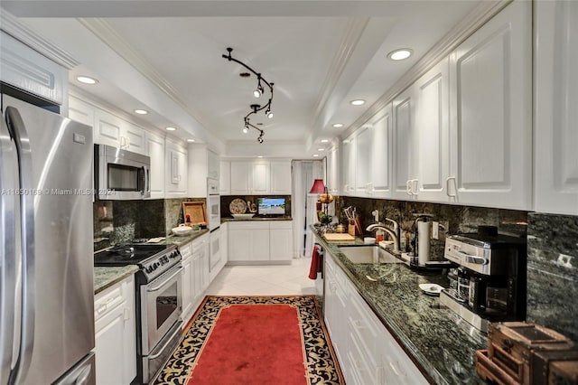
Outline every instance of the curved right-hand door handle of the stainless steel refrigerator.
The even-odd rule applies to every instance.
[[[16,145],[18,155],[18,174],[20,178],[20,241],[22,253],[22,316],[20,352],[10,374],[10,384],[22,383],[23,374],[28,371],[34,345],[34,202],[33,202],[33,166],[30,137],[24,127],[18,109],[6,108],[8,131]]]

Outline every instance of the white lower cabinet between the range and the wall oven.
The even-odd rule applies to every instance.
[[[209,234],[179,247],[182,255],[182,327],[191,320],[210,284]]]

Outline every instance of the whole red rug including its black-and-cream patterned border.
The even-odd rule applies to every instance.
[[[345,382],[316,296],[206,296],[151,383]]]

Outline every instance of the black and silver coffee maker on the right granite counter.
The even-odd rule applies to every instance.
[[[449,236],[444,257],[459,265],[448,275],[444,305],[483,332],[489,322],[526,318],[526,239],[480,226],[475,233]]]

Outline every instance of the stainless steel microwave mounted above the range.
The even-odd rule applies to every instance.
[[[97,200],[133,200],[151,196],[151,158],[107,145],[94,145]]]

